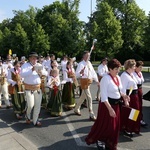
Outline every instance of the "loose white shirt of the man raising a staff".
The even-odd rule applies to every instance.
[[[85,68],[85,69],[84,69]],[[80,74],[80,71],[84,69],[84,74],[81,75]],[[98,78],[97,78],[97,74],[91,64],[90,61],[84,61],[82,60],[78,66],[77,66],[77,69],[76,69],[76,77],[79,78],[89,78],[89,79],[94,79],[96,82],[98,82]]]

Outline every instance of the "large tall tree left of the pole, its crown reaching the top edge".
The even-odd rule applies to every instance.
[[[78,53],[82,35],[78,13],[78,1],[56,1],[38,11],[36,20],[50,37],[50,53],[60,56]]]

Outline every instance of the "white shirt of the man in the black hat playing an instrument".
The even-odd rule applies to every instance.
[[[30,63],[23,64],[21,66],[20,75],[21,77],[24,78],[24,83],[26,84],[32,84],[32,85],[40,84],[41,83],[40,76],[35,70],[32,71],[32,68],[33,66]],[[41,70],[41,72],[42,75],[47,76],[47,71],[44,68]]]

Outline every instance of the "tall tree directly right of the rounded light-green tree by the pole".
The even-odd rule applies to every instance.
[[[107,2],[122,26],[123,45],[118,53],[120,59],[142,59],[143,34],[146,26],[146,16],[135,0],[97,0],[98,3]],[[130,55],[129,55],[130,54]],[[123,57],[122,57],[123,56]]]

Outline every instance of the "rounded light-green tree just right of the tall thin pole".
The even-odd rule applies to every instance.
[[[101,55],[114,57],[122,46],[121,23],[107,2],[97,5],[97,40]]]

